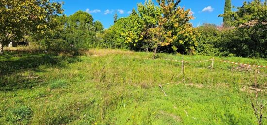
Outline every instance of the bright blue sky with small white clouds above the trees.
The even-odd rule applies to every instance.
[[[138,3],[144,3],[145,0],[63,0],[63,9],[67,16],[82,10],[89,12],[94,21],[99,20],[105,28],[113,25],[113,15],[115,11],[118,18],[128,16],[128,12],[136,9]],[[155,1],[155,0],[154,0]],[[241,6],[244,1],[251,0],[232,0],[233,6]],[[200,26],[203,23],[222,24],[222,18],[218,17],[223,13],[225,0],[181,0],[179,4],[185,9],[191,9],[194,20],[191,23]],[[156,3],[156,2],[155,2]]]

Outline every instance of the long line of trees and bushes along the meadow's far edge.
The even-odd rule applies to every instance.
[[[90,48],[123,48],[134,51],[242,56],[267,58],[267,5],[260,0],[244,2],[219,16],[224,25],[203,24],[194,28],[190,9],[180,0],[152,0],[137,5],[125,18],[114,16],[114,25],[103,28],[100,21],[83,11],[53,16],[52,30],[24,35],[27,41],[47,50],[76,51]]]

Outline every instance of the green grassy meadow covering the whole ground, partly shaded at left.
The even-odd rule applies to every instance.
[[[151,56],[112,49],[84,51],[77,57],[25,52],[0,56],[0,124],[257,124],[249,102],[255,69],[215,61],[211,71],[211,62],[190,63],[185,64],[183,83],[181,63],[142,59]],[[264,59],[215,59],[267,65]],[[267,69],[258,70],[260,98],[267,101]]]

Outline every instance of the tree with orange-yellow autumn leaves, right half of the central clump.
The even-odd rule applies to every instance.
[[[181,0],[157,0],[161,7],[164,40],[175,52],[195,54],[197,30],[189,22],[194,19],[190,9],[178,6]]]

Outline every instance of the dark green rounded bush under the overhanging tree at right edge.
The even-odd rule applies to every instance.
[[[251,28],[235,28],[223,31],[219,48],[223,56],[230,53],[240,57],[267,58],[267,36]]]

